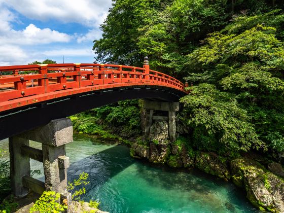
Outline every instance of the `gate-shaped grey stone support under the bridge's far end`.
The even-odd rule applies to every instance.
[[[153,122],[158,121],[167,121],[168,122],[168,135],[171,142],[175,141],[176,134],[176,118],[175,112],[179,111],[180,103],[179,102],[162,102],[162,101],[148,101],[144,100],[144,111],[146,115],[142,118],[145,119],[142,123],[145,123],[144,126],[144,137],[145,139],[149,138],[150,128]],[[155,111],[167,111],[168,116],[156,116]]]

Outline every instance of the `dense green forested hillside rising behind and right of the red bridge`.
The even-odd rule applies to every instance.
[[[181,120],[193,146],[275,154],[284,151],[282,9],[268,0],[117,0],[93,50],[119,64],[148,55],[151,68],[192,82]]]

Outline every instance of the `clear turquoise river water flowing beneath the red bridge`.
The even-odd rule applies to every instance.
[[[7,139],[0,141],[0,148],[7,146]],[[38,143],[31,146],[40,148]],[[87,172],[90,183],[82,199],[99,199],[99,208],[104,211],[257,212],[244,192],[231,183],[197,170],[150,165],[131,158],[129,148],[122,145],[74,134],[74,142],[66,145],[66,155],[70,158],[68,180]],[[30,163],[31,169],[43,173],[42,163]],[[44,179],[42,175],[35,177]]]

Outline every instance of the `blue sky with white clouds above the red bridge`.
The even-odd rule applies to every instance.
[[[0,0],[0,66],[92,63],[111,0]]]

